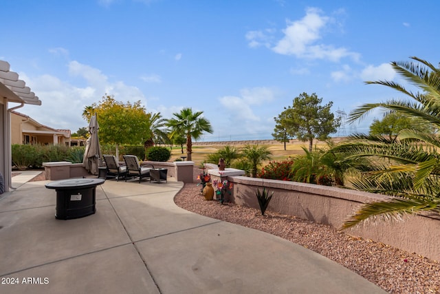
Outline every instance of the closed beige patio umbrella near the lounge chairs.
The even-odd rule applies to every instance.
[[[87,139],[83,167],[87,169],[91,174],[98,174],[98,168],[100,165],[100,158],[102,157],[101,148],[98,138],[98,121],[96,120],[96,114],[91,116],[89,123],[90,137]]]

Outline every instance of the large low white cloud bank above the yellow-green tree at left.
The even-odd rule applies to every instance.
[[[42,102],[40,107],[25,105],[21,108],[23,113],[43,125],[76,132],[78,128],[87,125],[82,117],[84,107],[97,103],[106,93],[114,95],[116,100],[124,103],[140,100],[146,106],[146,99],[137,87],[125,85],[121,81],[109,81],[107,76],[94,67],[72,61],[68,70],[72,76],[83,78],[85,85],[72,85],[70,81],[62,81],[50,74],[36,77],[21,74],[21,78]]]

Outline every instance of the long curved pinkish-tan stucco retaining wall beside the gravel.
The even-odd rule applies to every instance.
[[[268,211],[297,216],[340,229],[360,204],[384,200],[388,196],[281,180],[230,176],[234,182],[230,200],[259,209],[255,192],[266,187],[274,191]],[[432,260],[440,260],[440,216],[421,213],[401,220],[377,220],[345,231],[355,237],[382,242]]]

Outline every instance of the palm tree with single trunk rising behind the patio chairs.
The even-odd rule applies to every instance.
[[[203,132],[208,132],[212,134],[212,127],[206,118],[201,115],[203,112],[192,112],[192,108],[181,109],[180,112],[175,112],[173,116],[175,118],[170,118],[166,124],[173,130],[174,135],[184,135],[186,136],[186,156],[187,160],[191,160],[192,154],[192,138],[197,140],[200,138]]]

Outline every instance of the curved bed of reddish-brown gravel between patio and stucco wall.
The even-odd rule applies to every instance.
[[[175,203],[188,211],[295,242],[362,275],[389,293],[440,293],[440,263],[372,240],[353,238],[333,227],[294,216],[206,201],[197,184],[185,184]]]

